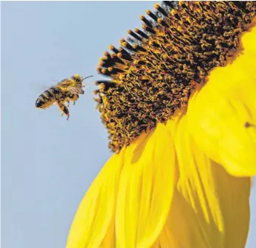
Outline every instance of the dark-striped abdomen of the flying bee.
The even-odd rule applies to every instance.
[[[59,88],[49,88],[38,96],[38,99],[35,101],[35,107],[44,109],[50,107],[55,103],[56,99],[60,98],[60,95],[62,95],[62,93]]]

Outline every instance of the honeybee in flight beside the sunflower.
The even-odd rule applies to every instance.
[[[75,74],[68,79],[63,79],[57,85],[41,93],[35,101],[35,107],[45,110],[46,108],[51,107],[52,104],[56,103],[62,113],[61,116],[67,116],[66,119],[68,120],[69,101],[74,102],[75,105],[79,95],[84,93],[83,88],[86,85],[83,83],[83,80],[89,77],[82,78],[78,74]],[[65,104],[66,102],[67,105]]]

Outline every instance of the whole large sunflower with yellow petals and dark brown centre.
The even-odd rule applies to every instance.
[[[97,108],[114,155],[67,248],[243,248],[256,174],[256,2],[165,1],[110,46]]]

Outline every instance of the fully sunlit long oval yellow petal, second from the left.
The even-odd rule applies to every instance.
[[[125,151],[117,198],[117,244],[152,247],[165,225],[177,180],[173,140],[164,124]]]

